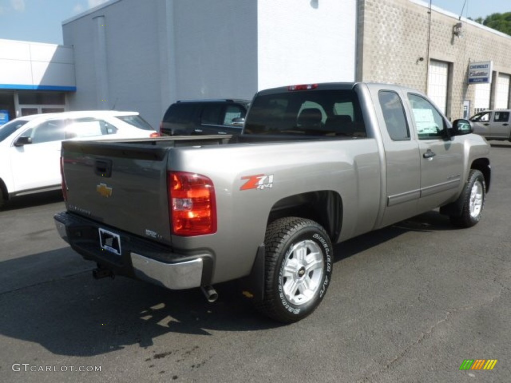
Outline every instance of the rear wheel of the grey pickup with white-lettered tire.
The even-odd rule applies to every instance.
[[[271,223],[265,236],[265,291],[260,311],[283,323],[311,314],[327,292],[332,258],[330,238],[316,222],[288,217]]]

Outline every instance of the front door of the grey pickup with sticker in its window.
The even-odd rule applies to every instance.
[[[419,94],[408,93],[419,138],[421,198],[419,212],[445,204],[456,195],[463,174],[463,145],[447,138],[445,117]]]

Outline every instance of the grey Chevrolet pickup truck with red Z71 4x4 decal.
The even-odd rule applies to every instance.
[[[326,83],[259,91],[243,134],[62,143],[60,236],[97,263],[168,289],[242,282],[270,318],[309,314],[334,244],[439,208],[481,218],[490,147],[421,92]],[[342,247],[337,247],[342,251]]]

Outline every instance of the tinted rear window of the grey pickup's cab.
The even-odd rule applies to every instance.
[[[366,136],[358,97],[351,89],[258,95],[244,133]]]

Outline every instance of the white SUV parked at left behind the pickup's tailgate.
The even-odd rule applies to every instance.
[[[138,112],[114,110],[33,114],[0,126],[0,206],[8,199],[60,188],[65,139],[157,137]]]

